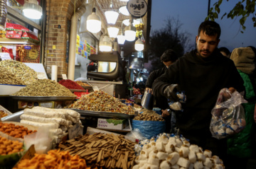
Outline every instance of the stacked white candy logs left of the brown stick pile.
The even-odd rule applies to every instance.
[[[21,115],[21,123],[35,127],[47,127],[53,136],[62,136],[70,127],[79,123],[80,114],[68,109],[50,109],[46,107],[33,107],[25,109]]]

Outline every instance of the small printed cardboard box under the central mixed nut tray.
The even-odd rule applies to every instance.
[[[122,130],[127,127],[128,120],[117,120],[117,119],[98,119],[97,128],[99,129],[117,129]]]

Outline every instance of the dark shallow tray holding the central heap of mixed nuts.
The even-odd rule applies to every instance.
[[[127,115],[124,113],[117,112],[95,112],[89,110],[79,110],[79,109],[71,109],[79,112],[81,116],[94,116],[94,117],[111,117],[111,118],[123,118],[123,119],[132,119],[135,115]],[[135,112],[136,114],[137,112]]]

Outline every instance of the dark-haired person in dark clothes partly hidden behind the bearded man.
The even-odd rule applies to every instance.
[[[157,69],[155,71],[152,71],[151,74],[149,74],[149,78],[146,81],[146,91],[152,92],[152,84],[156,78],[164,74],[164,72],[168,69],[168,67],[171,64],[174,64],[176,60],[178,59],[178,55],[173,49],[167,49],[164,51],[164,53],[161,55],[161,62],[163,62],[164,66],[160,69]],[[156,107],[159,107],[162,112],[162,117],[166,120],[166,132],[167,133],[172,133],[174,132],[175,128],[175,122],[176,122],[176,117],[175,114],[169,111],[169,105],[167,102],[167,99],[159,95],[159,97],[155,97],[156,100]],[[171,115],[170,115],[171,114]]]

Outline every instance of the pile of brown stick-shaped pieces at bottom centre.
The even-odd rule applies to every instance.
[[[71,156],[84,158],[87,165],[102,168],[131,168],[135,155],[136,143],[124,139],[122,135],[114,134],[85,134],[60,143],[61,151],[69,151]]]

